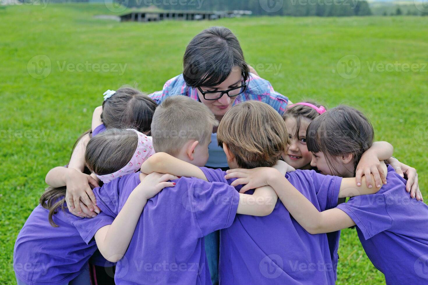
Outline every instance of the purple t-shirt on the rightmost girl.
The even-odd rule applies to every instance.
[[[411,199],[406,180],[388,165],[386,185],[337,208],[356,223],[358,237],[387,284],[428,284],[428,206]]]

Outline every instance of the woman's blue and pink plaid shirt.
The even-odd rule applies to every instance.
[[[159,105],[166,97],[175,95],[184,95],[199,101],[197,89],[186,85],[183,74],[169,79],[163,85],[162,91],[156,91],[150,94],[149,97]],[[244,93],[238,95],[233,105],[235,106],[249,100],[265,102],[272,106],[280,115],[284,114],[285,107],[288,104],[288,98],[274,91],[269,81],[252,73],[247,79],[247,88]]]

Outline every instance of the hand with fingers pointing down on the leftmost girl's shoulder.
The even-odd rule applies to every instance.
[[[79,217],[95,217],[100,212],[91,188],[91,186],[99,187],[94,178],[73,168],[68,168],[66,186],[65,202],[71,214]],[[86,208],[80,207],[80,201]]]

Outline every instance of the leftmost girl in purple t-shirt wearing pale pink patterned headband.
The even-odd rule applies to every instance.
[[[110,132],[107,135],[110,135],[111,140],[107,146],[104,145],[104,152],[100,151],[99,145],[96,145],[97,141],[100,140],[95,139],[91,142],[94,147],[91,148],[90,153],[87,153],[86,164],[88,168],[86,170],[96,171],[99,178],[107,183],[111,175],[116,175],[115,173],[122,176],[136,172],[143,161],[150,156],[150,152],[144,152],[144,149],[151,149],[151,140],[146,141],[146,138],[149,137],[136,130],[113,129],[106,132]],[[110,147],[107,152],[105,151],[106,147]],[[110,157],[100,157],[100,153]],[[114,161],[111,157],[112,154]],[[96,165],[95,161],[98,159],[103,159],[105,163]],[[166,182],[170,179],[176,179],[176,176],[169,174],[162,176],[159,173],[152,173],[142,177],[141,183],[135,189],[131,189],[134,197],[138,198],[134,201],[137,201],[138,206],[140,206],[139,209],[142,210],[147,200],[164,187],[174,186],[172,182]],[[95,240],[86,241],[79,235],[76,222],[82,219],[71,214],[64,204],[65,187],[49,187],[42,195],[40,205],[33,210],[19,232],[13,255],[18,285],[91,284],[88,261],[97,250],[97,244]],[[135,208],[132,210],[136,212]],[[122,211],[124,212],[122,215],[127,214],[125,207]],[[118,215],[116,220],[119,220],[120,217]],[[121,226],[127,227],[127,223],[112,224],[113,218],[103,212],[98,214],[97,221],[99,226],[111,224],[112,232],[117,229],[116,232],[121,233],[116,240],[112,238],[103,244],[110,250],[121,250],[119,242],[124,239],[124,234],[122,235],[124,231]],[[110,276],[110,279],[112,277]],[[105,281],[101,282],[99,279],[97,282],[99,284],[110,284]],[[113,281],[111,280],[111,282]]]

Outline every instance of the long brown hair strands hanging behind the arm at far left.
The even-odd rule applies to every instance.
[[[81,138],[83,138],[85,135],[92,135],[92,130],[89,129],[86,132],[84,132],[80,137],[76,140],[74,143],[71,154],[73,153],[74,148],[76,147],[77,143],[80,141]],[[70,155],[71,158],[71,155]],[[87,167],[83,170],[83,173],[90,174],[90,171]],[[58,208],[61,208],[62,211],[65,211],[65,192],[67,188],[64,187],[58,187],[54,188],[49,186],[46,188],[45,192],[42,194],[42,197],[40,197],[39,203],[42,205],[43,208],[49,210],[48,214],[48,220],[51,226],[57,227],[58,225],[53,221],[53,215],[58,212]]]

